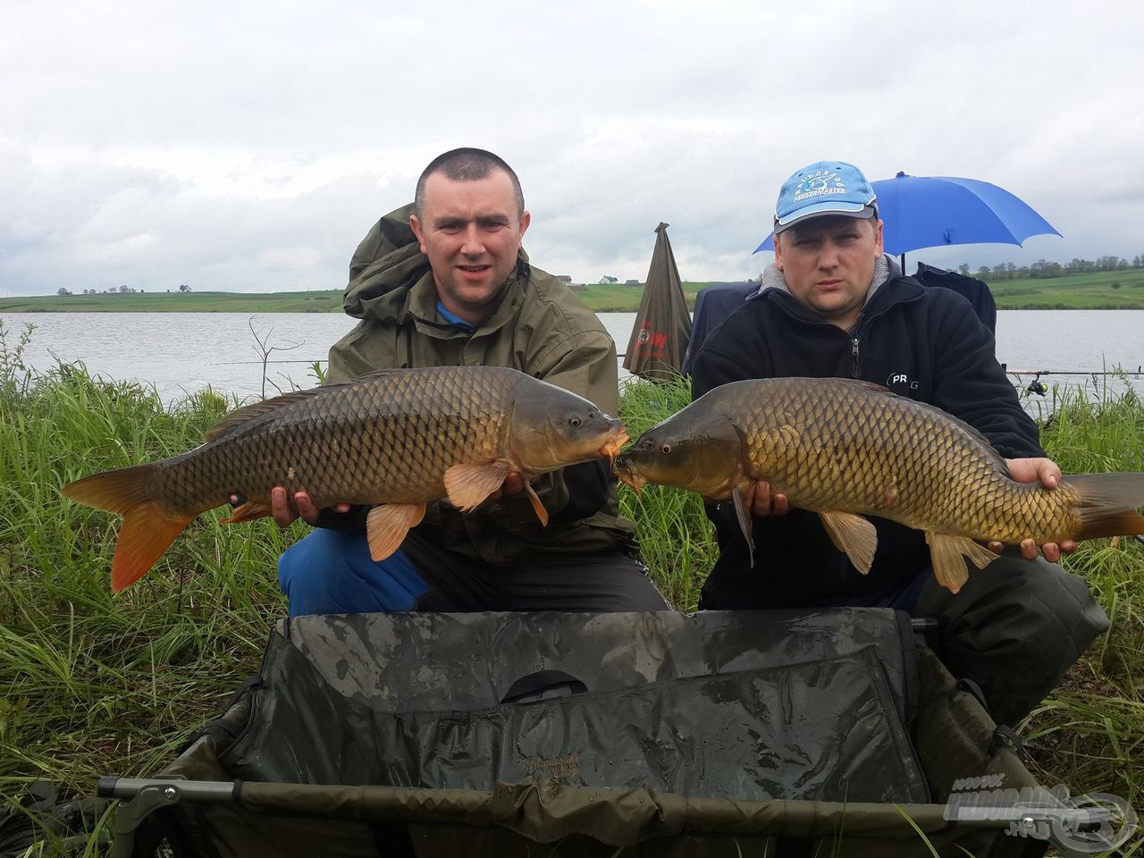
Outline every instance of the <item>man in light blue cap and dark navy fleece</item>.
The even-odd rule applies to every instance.
[[[1006,458],[1015,479],[1056,486],[1060,469],[1044,456],[998,364],[993,335],[962,296],[923,288],[882,249],[874,190],[859,169],[819,161],[791,176],[776,206],[774,263],[758,292],[706,340],[692,396],[741,379],[863,379],[964,420]],[[1107,628],[1085,582],[1054,565],[1072,542],[1040,553],[1031,539],[1003,551],[991,545],[1002,556],[971,570],[954,595],[934,578],[920,531],[873,518],[877,554],[861,575],[817,514],[791,508],[765,483],[747,500],[754,569],[732,506],[708,505],[720,558],[700,607],[861,605],[936,617],[938,654],[982,686],[1001,723],[1027,715]]]

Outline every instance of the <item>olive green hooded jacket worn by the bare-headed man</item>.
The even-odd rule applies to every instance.
[[[437,312],[429,260],[410,228],[412,212],[411,204],[389,213],[358,245],[342,303],[362,321],[331,348],[327,381],[390,367],[510,366],[615,414],[615,343],[567,286],[532,268],[521,251],[496,309],[475,332],[463,331]],[[602,508],[583,509],[587,517],[571,521],[583,499],[572,495],[565,471],[546,475],[533,486],[550,516],[547,527],[522,492],[486,502],[469,515],[448,503],[430,503],[418,532],[499,565],[535,554],[601,554],[634,547],[635,527],[619,516],[614,483],[607,483]],[[602,494],[598,485],[595,493]]]

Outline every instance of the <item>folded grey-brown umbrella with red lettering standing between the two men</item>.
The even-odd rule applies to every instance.
[[[648,283],[623,357],[623,368],[645,379],[678,375],[691,336],[691,315],[683,297],[680,269],[672,255],[672,243],[667,239],[667,227],[661,223],[656,228],[656,249],[651,255]]]

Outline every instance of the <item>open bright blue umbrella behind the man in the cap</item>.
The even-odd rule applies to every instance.
[[[1020,245],[1030,236],[1059,236],[1009,191],[976,178],[907,176],[872,182],[885,222],[885,252],[895,255],[946,245]],[[774,233],[755,253],[774,249]]]

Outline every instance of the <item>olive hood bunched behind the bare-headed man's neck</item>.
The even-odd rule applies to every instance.
[[[350,260],[350,281],[342,296],[347,316],[396,318],[406,307],[410,291],[431,275],[429,257],[421,253],[421,245],[410,227],[412,214],[412,202],[396,208],[362,239]],[[522,248],[517,275],[527,278],[527,265],[529,256]]]

